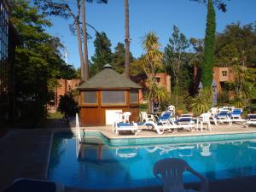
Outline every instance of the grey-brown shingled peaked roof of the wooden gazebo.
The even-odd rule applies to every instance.
[[[106,64],[100,73],[81,84],[78,90],[123,88],[140,89],[141,87],[130,79],[126,79],[124,75],[115,72],[111,65]]]

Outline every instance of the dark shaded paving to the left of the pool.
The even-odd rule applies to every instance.
[[[46,178],[51,136],[49,130],[10,130],[0,139],[0,191],[15,178]]]

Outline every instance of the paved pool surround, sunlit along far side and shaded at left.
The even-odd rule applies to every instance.
[[[6,189],[15,178],[30,177],[47,179],[49,152],[55,131],[74,131],[71,127],[53,126],[48,129],[10,129],[0,137],[0,191]],[[83,127],[81,128],[83,129]],[[248,129],[242,125],[212,125],[212,131],[178,131],[158,135],[154,131],[143,130],[137,136],[131,134],[115,135],[111,126],[84,127],[85,131],[102,131],[108,138],[140,137],[184,137],[212,134],[256,133],[255,126]],[[256,177],[232,178],[210,183],[210,192],[246,192],[256,191]],[[192,184],[196,186],[196,184]],[[89,192],[93,190],[66,188],[66,192]],[[150,189],[123,189],[109,191],[162,191],[160,187]]]

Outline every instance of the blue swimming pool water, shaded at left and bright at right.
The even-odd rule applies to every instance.
[[[186,160],[210,181],[256,175],[256,137],[193,143],[113,146],[100,134],[79,145],[72,134],[56,133],[49,179],[84,189],[123,189],[160,185],[152,170],[157,160]],[[101,143],[101,144],[95,144]],[[197,181],[185,174],[185,182]]]

